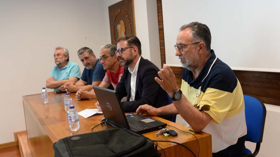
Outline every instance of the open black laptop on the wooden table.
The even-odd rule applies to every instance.
[[[140,114],[125,115],[117,92],[114,90],[93,86],[105,122],[113,128],[126,128],[138,133],[146,133],[166,127],[166,123]]]

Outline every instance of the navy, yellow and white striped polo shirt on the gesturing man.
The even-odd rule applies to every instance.
[[[184,68],[181,90],[192,105],[210,105],[210,110],[204,112],[212,121],[202,131],[212,135],[213,153],[236,144],[247,134],[241,85],[213,50],[197,78],[193,79],[193,73]],[[184,125],[190,127],[186,121]]]

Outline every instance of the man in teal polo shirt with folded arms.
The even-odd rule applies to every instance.
[[[56,47],[54,51],[54,63],[46,81],[46,87],[54,91],[64,90],[64,83],[76,83],[81,78],[81,71],[77,63],[69,61],[69,52],[64,47]]]

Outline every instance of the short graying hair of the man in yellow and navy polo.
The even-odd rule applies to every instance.
[[[199,22],[191,22],[183,25],[180,31],[190,29],[193,42],[205,43],[205,48],[210,52],[211,50],[211,33],[207,25]]]

